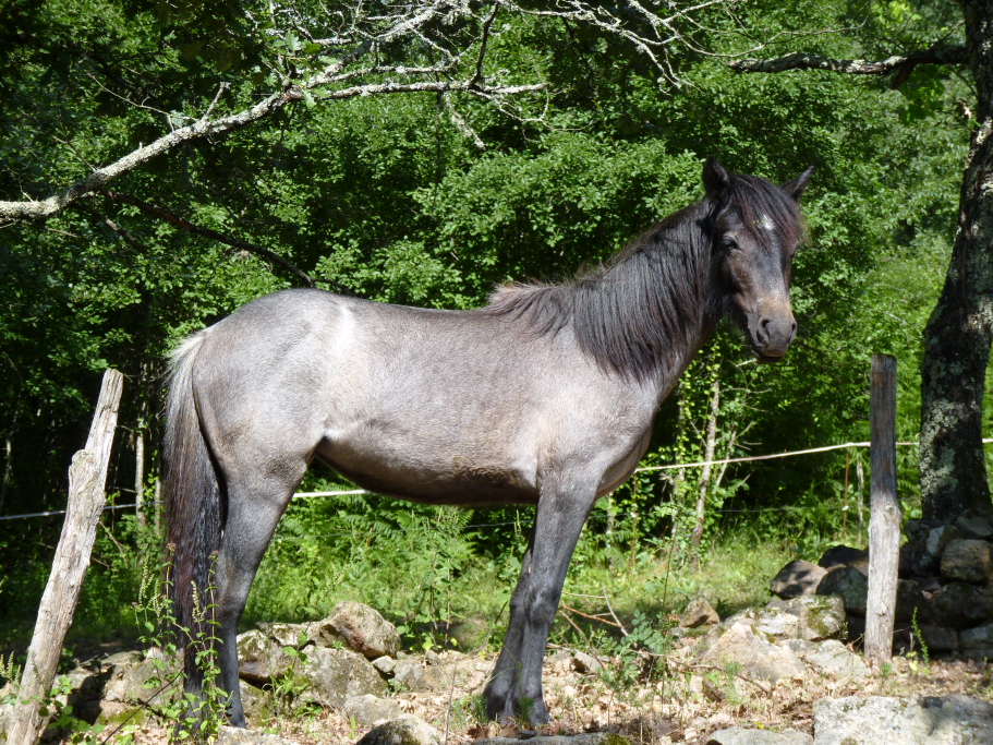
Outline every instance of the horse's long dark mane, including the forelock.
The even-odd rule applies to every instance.
[[[755,226],[763,216],[787,242],[803,237],[795,200],[763,178],[735,173],[722,203],[707,197],[666,217],[603,266],[561,284],[499,287],[481,312],[522,319],[540,335],[571,327],[598,365],[644,381],[722,311],[711,253],[714,217],[724,207],[762,242],[768,233]]]

